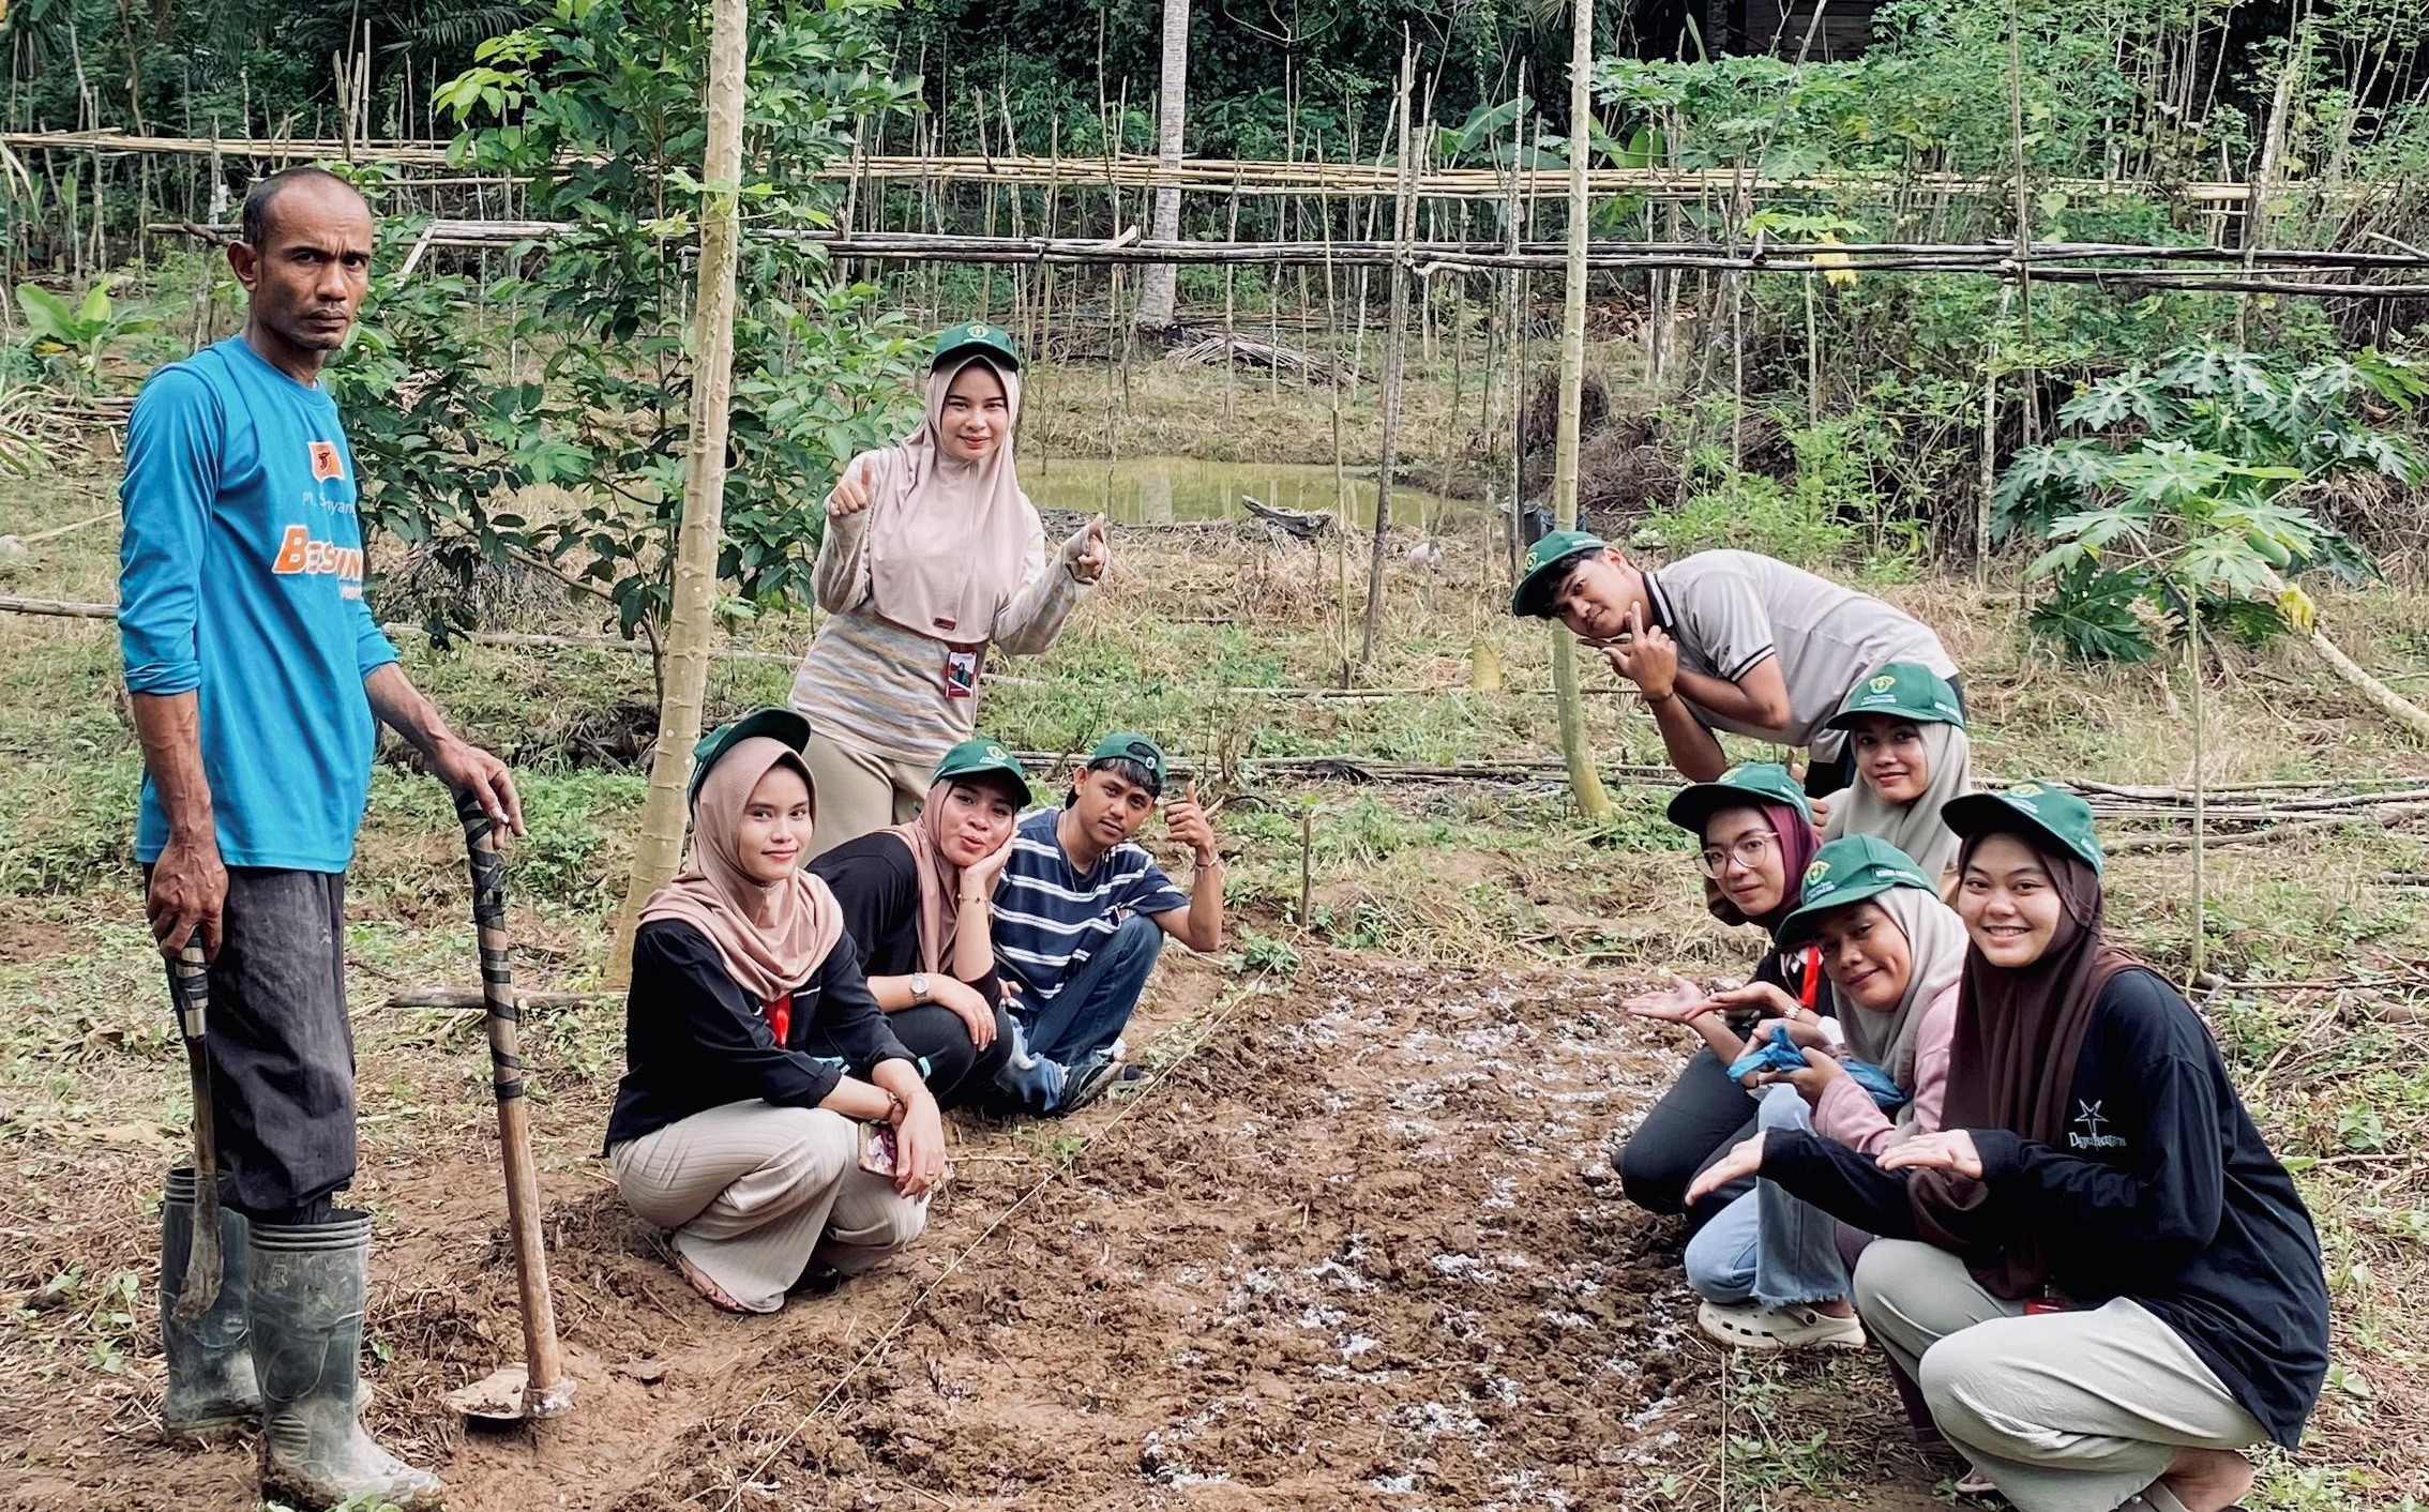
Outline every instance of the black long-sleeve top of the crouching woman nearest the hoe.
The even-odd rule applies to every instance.
[[[707,934],[683,920],[641,925],[624,997],[624,1080],[607,1114],[607,1143],[753,1097],[819,1107],[845,1073],[913,1061],[870,997],[850,934],[792,990],[785,1044],[775,1041],[763,1007],[726,976]],[[840,1063],[804,1053],[814,1027],[821,1044],[843,1051]]]

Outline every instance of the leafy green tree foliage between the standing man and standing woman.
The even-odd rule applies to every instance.
[[[828,226],[809,172],[904,102],[867,2],[758,5],[751,24],[743,238],[724,553],[746,602],[806,599],[819,500],[908,393],[906,335],[874,289],[838,282],[785,231]],[[454,155],[530,175],[534,218],[581,231],[520,250],[486,286],[403,272],[391,223],[379,299],[335,371],[367,512],[462,582],[479,561],[551,563],[615,599],[624,633],[663,621],[690,444],[687,299],[702,184],[707,17],[680,0],[556,0],[479,49],[442,102],[479,126]],[[496,311],[503,306],[503,320]],[[493,318],[483,330],[476,311]],[[532,485],[547,519],[503,505]]]

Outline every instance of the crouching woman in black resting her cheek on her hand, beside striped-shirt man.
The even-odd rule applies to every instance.
[[[1030,781],[1001,740],[945,752],[918,818],[811,862],[836,891],[870,995],[921,1061],[938,1107],[976,1102],[1013,1053],[996,973],[996,881]]]

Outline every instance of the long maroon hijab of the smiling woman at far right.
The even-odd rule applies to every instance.
[[[1965,840],[1958,874],[1972,864],[1984,830]],[[1958,995],[1955,1039],[1948,1046],[1948,1099],[1941,1129],[2009,1129],[2023,1138],[2065,1146],[2067,1097],[2074,1063],[2099,1012],[2108,978],[2142,961],[2101,934],[2106,900],[2101,876],[2043,835],[2011,830],[2048,866],[2065,913],[2050,949],[2021,971],[1992,966],[1980,947],[1965,949],[1965,983]],[[1965,1267],[1994,1296],[2040,1291],[2048,1262],[2033,1235],[1997,1233],[1982,1204],[1989,1189],[1946,1170],[1919,1170],[1907,1201],[1924,1238],[1965,1257]]]

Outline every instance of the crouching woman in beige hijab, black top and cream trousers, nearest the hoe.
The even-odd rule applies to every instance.
[[[692,852],[634,937],[607,1119],[617,1192],[673,1230],[683,1277],[729,1313],[772,1313],[894,1255],[945,1172],[935,1099],[870,997],[836,896],[802,871],[806,743],[787,709],[702,743]]]

